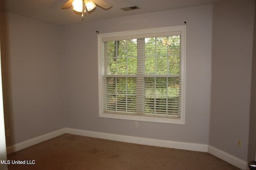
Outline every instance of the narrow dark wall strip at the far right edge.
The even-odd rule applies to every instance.
[[[256,4],[255,4],[256,7]],[[256,150],[256,11],[254,15],[254,37],[252,54],[252,88],[251,88],[251,110],[250,110],[250,131],[248,145],[248,162],[255,160]]]

